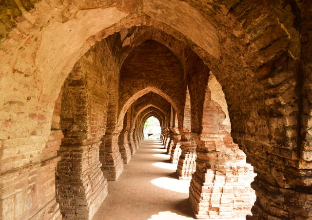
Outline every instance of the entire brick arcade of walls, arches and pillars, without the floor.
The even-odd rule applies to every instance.
[[[178,177],[192,178],[197,218],[250,214],[246,160],[257,174],[248,218],[312,218],[311,10],[309,0],[1,2],[1,218],[91,219],[151,114]],[[150,92],[166,102],[143,109]]]

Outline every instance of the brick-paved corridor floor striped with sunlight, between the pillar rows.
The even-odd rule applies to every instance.
[[[193,219],[188,203],[189,180],[176,179],[176,164],[158,140],[144,140],[93,220]]]

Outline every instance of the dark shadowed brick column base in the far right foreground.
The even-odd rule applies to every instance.
[[[257,198],[249,219],[312,219],[311,163],[298,160],[297,152],[281,146],[237,141],[257,173],[251,183]]]

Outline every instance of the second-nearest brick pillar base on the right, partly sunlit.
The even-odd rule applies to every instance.
[[[180,142],[181,155],[176,169],[177,177],[179,180],[191,180],[196,169],[196,142],[188,131],[182,134]]]

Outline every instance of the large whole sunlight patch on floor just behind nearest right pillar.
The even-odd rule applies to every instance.
[[[152,184],[178,193],[189,193],[190,180],[177,180],[160,177],[150,181]]]

